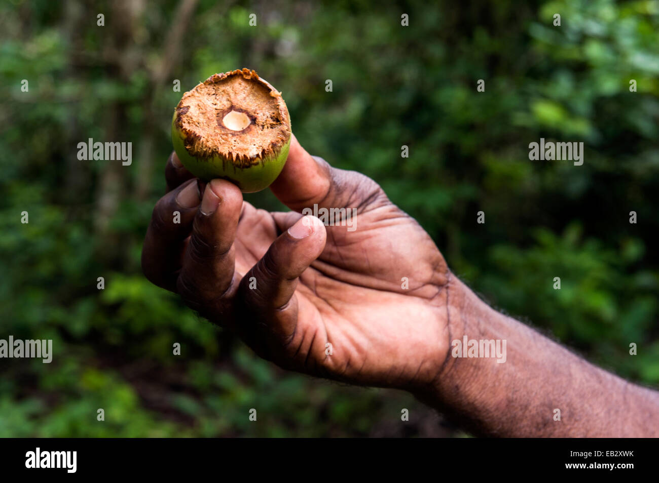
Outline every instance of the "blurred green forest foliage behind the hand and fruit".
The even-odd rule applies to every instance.
[[[0,436],[464,436],[407,394],[279,370],[142,276],[173,109],[243,66],[492,305],[659,384],[659,1],[9,0],[0,36],[0,338],[54,349],[0,360]],[[541,137],[585,163],[529,161]],[[88,138],[132,165],[78,161]]]

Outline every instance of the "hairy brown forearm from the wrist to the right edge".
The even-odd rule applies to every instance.
[[[494,311],[456,277],[449,282],[447,307],[451,342],[464,336],[505,340],[503,363],[496,357],[453,357],[464,354],[456,343],[433,387],[419,394],[475,434],[659,436],[657,392],[599,369]]]

